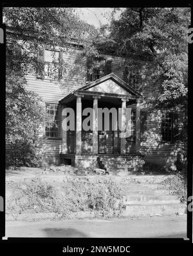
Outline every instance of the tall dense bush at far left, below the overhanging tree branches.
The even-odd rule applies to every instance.
[[[6,77],[7,167],[37,166],[44,157],[40,131],[50,120],[41,98],[27,91],[25,83],[20,73],[11,72]]]

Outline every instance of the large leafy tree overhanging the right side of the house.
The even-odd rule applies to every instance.
[[[149,65],[148,79],[160,83],[160,93],[145,98],[143,107],[150,112],[156,108],[180,110],[185,118],[179,138],[185,145],[190,8],[125,8],[118,20],[113,14],[107,28],[109,35],[99,37],[98,49],[124,57],[124,65],[133,65],[133,69]],[[135,63],[136,60],[142,60],[144,64]],[[178,165],[186,167],[187,149],[181,149]]]

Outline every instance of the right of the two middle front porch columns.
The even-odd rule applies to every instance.
[[[129,101],[127,99],[122,98],[122,114],[121,114],[121,145],[120,145],[120,153],[121,155],[125,155],[126,153],[126,102]]]

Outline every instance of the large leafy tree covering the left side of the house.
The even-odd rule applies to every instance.
[[[37,165],[43,156],[39,131],[45,123],[55,124],[48,120],[41,98],[26,90],[24,76],[39,67],[39,47],[68,50],[74,39],[93,50],[86,38],[96,37],[96,33],[78,19],[73,8],[4,8],[3,16],[7,47],[6,164]]]

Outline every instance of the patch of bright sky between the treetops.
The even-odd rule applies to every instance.
[[[80,19],[99,28],[100,23],[101,25],[109,23],[107,17],[111,14],[113,8],[76,8],[76,10]],[[116,12],[115,19],[120,16],[121,10]]]

